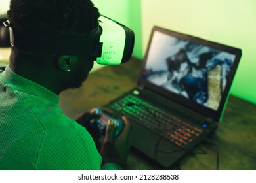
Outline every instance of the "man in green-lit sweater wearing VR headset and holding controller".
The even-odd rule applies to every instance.
[[[15,45],[17,37],[88,38],[100,14],[89,0],[11,0],[7,16]],[[86,80],[95,58],[31,52],[25,47],[36,45],[22,43],[12,46],[9,65],[0,71],[0,169],[120,169],[129,151],[127,119],[117,139],[109,122],[98,153],[91,129],[81,125],[93,114],[75,121],[57,105],[60,92]]]

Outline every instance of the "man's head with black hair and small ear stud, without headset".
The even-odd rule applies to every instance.
[[[100,14],[89,0],[11,0],[7,16],[16,35],[86,37],[98,26]],[[64,90],[81,85],[93,67],[93,58],[85,55],[26,52],[22,48],[13,47],[10,66],[30,79],[37,77],[35,73],[44,75],[40,72],[47,71]],[[49,78],[38,76],[33,80],[40,83],[46,79]]]

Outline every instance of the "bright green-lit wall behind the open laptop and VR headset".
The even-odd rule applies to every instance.
[[[231,94],[256,103],[255,0],[94,0],[102,14],[135,31],[142,59],[154,25],[242,49]]]

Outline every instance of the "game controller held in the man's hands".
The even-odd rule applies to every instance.
[[[119,135],[119,133],[121,133],[123,129],[123,122],[121,120],[112,118],[112,116],[106,114],[106,112],[104,112],[101,108],[93,108],[91,112],[95,114],[95,118],[93,118],[93,120],[90,121],[90,125],[92,127],[96,127],[96,129],[98,129],[98,131],[102,135],[105,135],[108,120],[114,120],[114,125],[116,128],[114,137],[116,138]]]

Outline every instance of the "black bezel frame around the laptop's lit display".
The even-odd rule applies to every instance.
[[[146,67],[146,61],[148,59],[151,42],[153,39],[153,35],[156,31],[158,31],[160,33],[164,33],[166,35],[170,35],[172,37],[176,37],[177,39],[183,39],[185,41],[194,42],[196,44],[202,44],[202,45],[208,46],[210,48],[214,48],[217,50],[221,50],[221,51],[236,55],[236,58],[234,59],[234,63],[230,70],[230,74],[228,76],[228,80],[226,82],[226,88],[224,89],[223,94],[221,95],[221,101],[219,103],[219,107],[217,108],[217,110],[213,110],[211,108],[200,105],[199,103],[196,103],[195,101],[187,99],[186,97],[182,97],[181,95],[178,95],[176,93],[169,92],[168,90],[165,90],[164,88],[161,88],[160,86],[156,86],[155,84],[152,84],[151,82],[149,82],[148,80],[143,78],[143,71]],[[212,118],[213,120],[219,122],[219,120],[221,119],[223,108],[225,106],[226,99],[228,98],[228,95],[230,92],[230,87],[231,87],[232,81],[234,80],[233,78],[236,73],[238,63],[240,61],[241,56],[242,56],[242,50],[240,50],[239,48],[234,48],[232,46],[219,44],[219,43],[213,42],[213,41],[207,41],[207,40],[201,39],[199,37],[194,37],[191,35],[186,35],[183,33],[178,33],[175,31],[171,31],[168,29],[164,29],[164,28],[155,26],[155,27],[153,27],[152,33],[150,35],[150,40],[148,42],[148,47],[147,47],[146,54],[143,59],[142,69],[140,71],[139,80],[138,80],[137,84],[140,86],[140,88],[146,88],[148,90],[154,91],[154,93],[158,93],[161,96],[166,97],[167,99],[169,99],[171,101],[175,101],[176,103],[179,103],[179,105],[188,107],[191,110],[194,110],[195,112],[198,112],[207,118]]]

